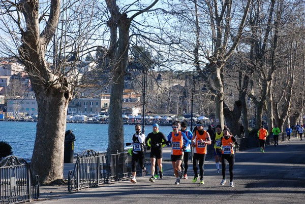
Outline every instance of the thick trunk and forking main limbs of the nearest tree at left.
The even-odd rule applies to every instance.
[[[51,0],[48,22],[43,31],[39,25],[39,1],[21,1],[17,8],[24,15],[26,30],[20,28],[20,59],[29,74],[38,105],[36,140],[31,170],[41,184],[64,178],[64,137],[66,113],[72,90],[63,76],[52,74],[45,60],[47,46],[59,20],[60,0]]]

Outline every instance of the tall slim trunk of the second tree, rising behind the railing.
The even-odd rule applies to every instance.
[[[122,100],[124,77],[128,58],[130,19],[120,14],[112,1],[106,1],[111,18],[108,22],[111,33],[109,58],[113,67],[113,79],[109,105],[108,154],[124,151],[124,127],[122,117]],[[117,29],[119,38],[117,39]]]

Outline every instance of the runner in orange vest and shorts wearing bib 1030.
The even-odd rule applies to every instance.
[[[172,124],[173,131],[167,136],[167,144],[172,147],[171,150],[171,161],[174,169],[174,174],[176,176],[176,185],[180,184],[180,179],[182,178],[183,171],[181,169],[182,160],[184,157],[184,151],[186,151],[189,145],[189,138],[185,133],[178,130],[179,125],[177,122]]]

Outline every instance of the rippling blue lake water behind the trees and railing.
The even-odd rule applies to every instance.
[[[12,145],[13,155],[31,159],[35,143],[36,124],[33,122],[0,121],[0,141],[4,140]],[[74,153],[82,153],[87,149],[93,149],[97,152],[107,150],[107,124],[67,123],[67,130],[73,130],[75,135]],[[171,126],[160,126],[159,130],[167,136],[172,128]],[[152,131],[153,126],[145,125],[146,136]],[[134,133],[134,125],[124,125],[124,143],[131,142]]]

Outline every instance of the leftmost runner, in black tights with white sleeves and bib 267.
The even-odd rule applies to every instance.
[[[132,143],[127,142],[126,146],[133,145],[132,147],[132,156],[131,156],[131,164],[132,164],[132,178],[130,182],[137,183],[136,174],[137,174],[137,162],[139,162],[139,166],[142,168],[142,176],[146,175],[146,168],[144,165],[144,142],[145,135],[141,132],[141,125],[135,126],[136,133],[132,136]]]

